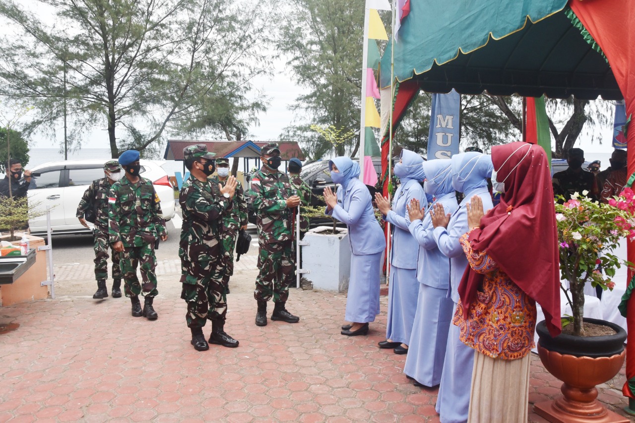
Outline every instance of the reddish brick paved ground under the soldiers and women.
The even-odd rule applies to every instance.
[[[20,325],[0,335],[0,422],[438,421],[437,390],[412,386],[405,357],[376,346],[385,299],[369,335],[347,338],[342,295],[292,290],[300,323],[260,328],[251,294],[231,294],[227,332],[241,345],[196,352],[178,284],[159,290],[154,322],[132,318],[127,299],[67,295],[0,309],[0,324]],[[531,376],[532,403],[559,393],[535,356]],[[600,391],[613,409],[625,405],[616,389]]]

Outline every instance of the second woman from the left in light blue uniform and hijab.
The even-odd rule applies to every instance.
[[[427,206],[424,189],[419,184],[425,178],[422,163],[424,159],[417,153],[405,149],[401,151],[401,159],[394,167],[394,173],[401,185],[395,191],[392,209],[382,194],[379,192],[375,194],[375,202],[384,215],[384,220],[394,227],[386,340],[380,341],[378,345],[380,348],[394,349],[395,354],[408,352],[408,342],[410,342],[412,324],[417,311],[419,245],[408,231],[410,218],[406,206],[413,199]]]

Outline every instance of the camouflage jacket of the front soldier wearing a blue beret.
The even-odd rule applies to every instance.
[[[166,234],[159,196],[150,180],[140,178],[133,184],[124,176],[110,187],[108,203],[110,244],[154,244],[157,236]]]

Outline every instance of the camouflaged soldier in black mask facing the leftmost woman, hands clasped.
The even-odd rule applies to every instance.
[[[281,163],[277,144],[265,145],[260,153],[264,164],[251,177],[250,191],[259,247],[259,273],[253,292],[258,302],[256,325],[267,325],[267,301],[271,297],[276,303],[271,319],[297,323],[300,318],[286,311],[284,305],[295,278],[291,209],[300,204],[300,197],[293,194],[289,178],[277,170]]]

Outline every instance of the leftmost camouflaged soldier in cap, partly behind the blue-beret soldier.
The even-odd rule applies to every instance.
[[[104,164],[105,177],[93,180],[90,187],[84,192],[84,196],[77,206],[77,218],[79,223],[88,227],[84,214],[92,209],[95,212],[95,229],[93,229],[93,250],[95,250],[95,279],[97,279],[97,292],[94,299],[108,297],[106,279],[108,279],[108,250],[110,248],[108,236],[108,197],[112,184],[121,179],[121,166],[116,160],[107,161]],[[121,297],[121,268],[119,261],[121,253],[112,250],[112,298]]]

